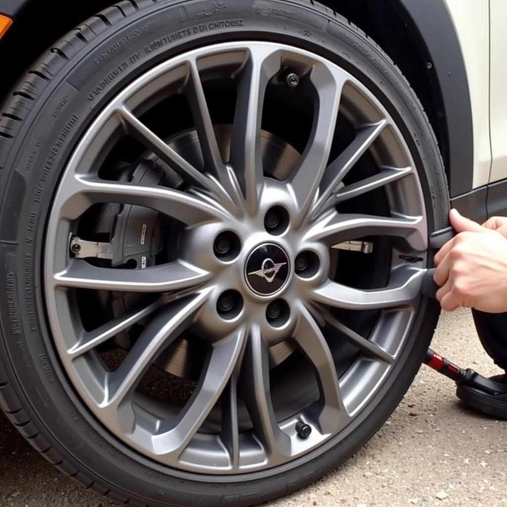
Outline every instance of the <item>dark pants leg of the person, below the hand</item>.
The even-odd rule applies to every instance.
[[[507,313],[472,310],[472,315],[484,349],[507,372]]]

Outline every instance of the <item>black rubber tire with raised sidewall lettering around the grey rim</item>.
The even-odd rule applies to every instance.
[[[129,505],[253,505],[314,482],[363,446],[417,373],[439,316],[422,299],[389,375],[334,438],[280,466],[206,475],[164,466],[94,416],[65,371],[50,330],[44,281],[51,206],[70,155],[112,97],[148,69],[195,48],[271,41],[335,62],[365,85],[403,134],[422,188],[427,232],[447,225],[449,197],[436,138],[393,62],[364,32],[305,0],[130,0],[68,33],[41,57],[0,120],[0,405],[61,472]],[[426,238],[427,239],[427,238]],[[431,255],[424,256],[429,266]]]

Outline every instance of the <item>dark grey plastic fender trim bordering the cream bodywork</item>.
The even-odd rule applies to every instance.
[[[443,0],[390,0],[407,23],[430,67],[451,197],[473,188],[474,129],[465,62],[452,18]]]

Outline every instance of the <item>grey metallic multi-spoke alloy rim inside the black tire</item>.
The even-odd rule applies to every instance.
[[[299,70],[300,86],[314,103],[314,124],[294,170],[277,180],[267,177],[263,168],[261,122],[268,83],[285,67]],[[206,73],[213,70],[217,75],[221,69],[237,83],[226,162],[203,89]],[[146,104],[171,87],[187,95],[191,104],[204,170],[139,119]],[[335,160],[329,160],[344,103],[354,104],[347,111],[359,111],[356,118],[345,113],[355,122],[356,135]],[[109,139],[123,134],[135,137],[170,166],[186,190],[99,176],[99,160]],[[382,148],[374,155],[378,173],[344,186],[361,156],[377,145]],[[337,210],[340,203],[378,189],[386,189],[389,216]],[[184,240],[178,258],[146,269],[117,269],[71,255],[69,238],[82,215],[92,205],[107,202],[150,208],[181,224]],[[273,206],[282,207],[287,215],[286,229],[276,235],[264,223]],[[213,242],[224,231],[239,239],[232,260],[213,254]],[[361,289],[331,279],[333,246],[365,236],[399,238],[386,286]],[[290,270],[280,291],[260,295],[246,283],[245,262],[259,245],[268,243],[286,252]],[[141,76],[104,108],[81,139],[62,176],[48,222],[48,318],[71,384],[122,442],[173,468],[206,474],[256,472],[339,438],[378,392],[410,332],[426,249],[427,219],[414,161],[393,119],[364,85],[338,65],[294,47],[220,44],[173,58]],[[311,252],[316,259],[309,276],[294,269],[301,252]],[[400,259],[400,253],[410,254],[412,262]],[[153,297],[90,331],[76,310],[76,289]],[[226,291],[239,294],[241,303],[233,316],[224,317],[217,311],[217,301]],[[289,311],[283,322],[274,324],[266,308],[280,299]],[[369,336],[361,336],[337,317],[335,309],[379,314]],[[144,328],[125,359],[116,371],[108,371],[97,347],[141,321]],[[340,373],[323,327],[339,332],[358,351]],[[178,413],[143,404],[136,394],[141,377],[188,329],[207,344],[193,395]],[[315,399],[292,413],[274,407],[270,386],[273,349],[287,341],[302,353],[317,386]],[[238,400],[251,421],[246,429],[238,422]],[[206,426],[216,410],[221,412],[220,425]],[[298,422],[311,427],[308,438],[298,434]]]

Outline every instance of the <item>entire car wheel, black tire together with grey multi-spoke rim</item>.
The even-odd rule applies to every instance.
[[[363,446],[439,307],[437,143],[364,33],[314,2],[120,2],[0,122],[0,400],[132,505],[250,505]]]

